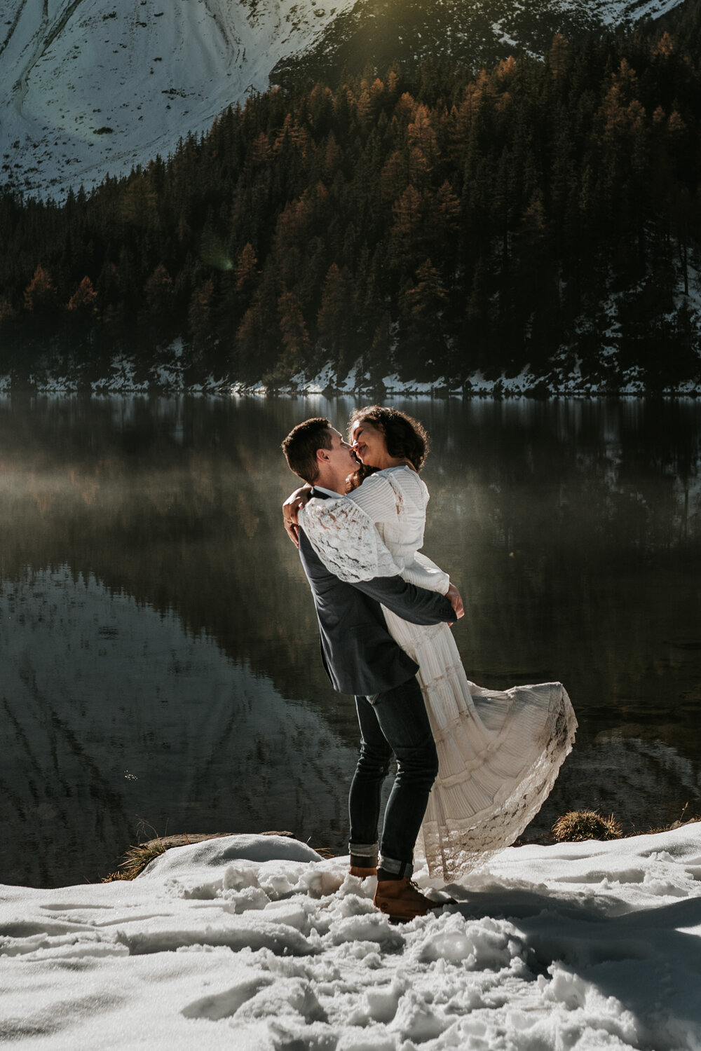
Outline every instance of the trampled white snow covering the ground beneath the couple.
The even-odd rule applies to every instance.
[[[0,1039],[701,1048],[701,824],[510,848],[450,887],[456,904],[406,926],[347,862],[234,836],[169,850],[132,883],[0,888]]]

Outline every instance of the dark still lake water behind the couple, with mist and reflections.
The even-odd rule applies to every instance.
[[[425,551],[480,684],[580,729],[528,838],[701,811],[701,404],[395,398],[429,429]],[[96,880],[153,833],[345,851],[357,729],[318,656],[280,442],[350,398],[0,399],[0,882]]]

